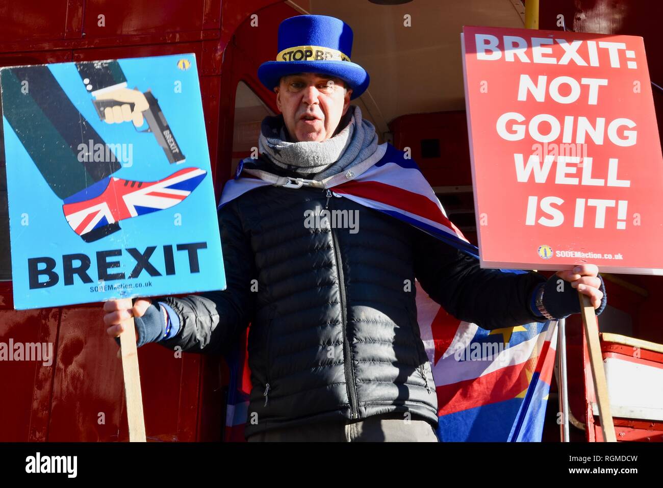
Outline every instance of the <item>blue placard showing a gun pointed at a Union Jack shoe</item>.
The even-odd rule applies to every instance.
[[[194,54],[0,84],[15,309],[225,289]]]

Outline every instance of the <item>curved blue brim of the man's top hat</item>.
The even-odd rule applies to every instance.
[[[366,91],[370,77],[359,64],[350,61],[267,61],[258,68],[258,78],[269,90],[278,86],[282,76],[295,73],[322,73],[337,76],[352,88],[350,99]]]

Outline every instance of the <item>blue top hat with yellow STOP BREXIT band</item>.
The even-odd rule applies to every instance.
[[[258,78],[269,90],[278,86],[282,76],[294,73],[322,73],[337,76],[352,88],[351,99],[369,86],[369,74],[350,61],[352,29],[345,22],[327,15],[298,15],[278,26],[276,61],[258,68]]]

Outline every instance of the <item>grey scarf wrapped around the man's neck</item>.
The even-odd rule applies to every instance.
[[[316,181],[347,171],[375,153],[377,133],[372,123],[361,118],[356,105],[350,105],[345,116],[349,122],[343,130],[322,143],[291,143],[286,140],[282,115],[265,117],[258,151],[276,166]]]

